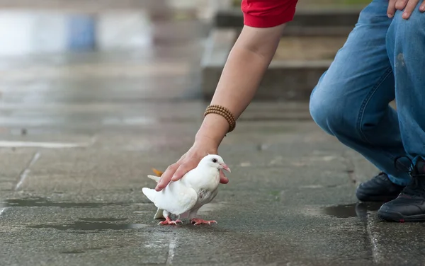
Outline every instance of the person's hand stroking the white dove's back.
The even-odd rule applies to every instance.
[[[208,141],[208,139],[195,141],[195,144],[193,144],[186,154],[181,156],[179,161],[166,168],[155,190],[161,191],[171,181],[181,179],[188,171],[196,168],[200,160],[208,154],[217,154],[217,146]],[[222,170],[220,170],[220,183],[227,184],[228,182],[229,179],[227,179]]]

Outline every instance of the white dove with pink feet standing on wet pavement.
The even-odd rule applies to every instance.
[[[158,208],[154,219],[165,218],[165,221],[159,224],[182,223],[179,219],[186,217],[195,225],[217,223],[198,219],[196,214],[200,207],[211,202],[217,195],[221,169],[230,172],[220,156],[208,154],[200,160],[196,168],[183,175],[180,180],[169,183],[162,191],[143,187],[143,194]],[[157,182],[160,179],[154,175],[148,175],[148,178]],[[170,214],[179,216],[179,219],[171,220]]]

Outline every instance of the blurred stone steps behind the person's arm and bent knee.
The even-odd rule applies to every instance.
[[[254,100],[308,100],[320,76],[353,30],[363,6],[297,9]],[[203,58],[203,93],[212,97],[243,26],[240,8],[217,12]]]

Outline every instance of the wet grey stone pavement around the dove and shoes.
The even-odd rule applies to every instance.
[[[159,226],[142,187],[193,141],[200,42],[0,63],[0,265],[423,265],[424,224],[356,204],[376,169],[306,103],[253,103],[220,147],[212,226]]]

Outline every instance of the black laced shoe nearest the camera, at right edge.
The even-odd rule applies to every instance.
[[[413,167],[412,182],[397,199],[380,207],[378,217],[385,221],[425,221],[425,160],[419,158]]]

